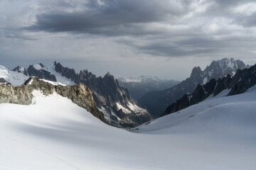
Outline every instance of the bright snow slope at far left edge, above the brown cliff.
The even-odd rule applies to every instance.
[[[5,79],[14,86],[20,86],[26,81],[26,79],[28,79],[28,76],[22,74],[21,72],[11,71],[0,65],[0,78]]]

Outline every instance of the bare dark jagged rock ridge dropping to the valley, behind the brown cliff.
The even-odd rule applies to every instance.
[[[75,83],[82,83],[88,86],[92,91],[93,98],[98,108],[102,108],[110,115],[110,125],[127,128],[134,127],[151,120],[151,115],[146,111],[132,111],[129,108],[129,103],[139,106],[130,95],[127,89],[119,86],[117,79],[107,72],[105,77],[96,77],[95,74],[86,70],[75,73],[74,69],[63,67],[60,63],[54,62],[55,71],[60,73],[63,77],[71,79]],[[117,103],[122,105],[129,113],[124,113],[122,109],[117,107]],[[115,113],[117,116],[112,114]],[[117,117],[121,120],[118,120]],[[113,118],[113,119],[112,119]],[[117,121],[118,120],[118,121]]]

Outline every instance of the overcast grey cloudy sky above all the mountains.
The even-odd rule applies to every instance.
[[[53,61],[97,76],[182,80],[233,57],[256,63],[256,2],[1,0],[0,64]]]

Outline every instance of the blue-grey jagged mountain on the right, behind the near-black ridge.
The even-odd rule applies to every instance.
[[[233,58],[213,61],[203,71],[200,67],[194,67],[191,77],[188,79],[164,91],[149,92],[139,99],[139,103],[146,106],[154,118],[158,118],[178,98],[184,94],[192,94],[197,84],[206,84],[210,79],[223,78],[227,74],[232,77],[237,69],[245,69],[246,67],[248,66],[241,60],[234,60]]]

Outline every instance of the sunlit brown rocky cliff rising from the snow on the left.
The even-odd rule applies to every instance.
[[[33,91],[38,90],[43,95],[53,94],[55,91],[60,96],[69,98],[73,103],[85,108],[87,111],[100,118],[107,123],[103,113],[96,108],[93,100],[92,92],[84,84],[76,84],[74,86],[54,86],[46,81],[42,81],[37,77],[30,77],[23,85],[13,86],[11,84],[2,84],[0,86],[0,103],[16,103],[30,105],[32,103]]]

